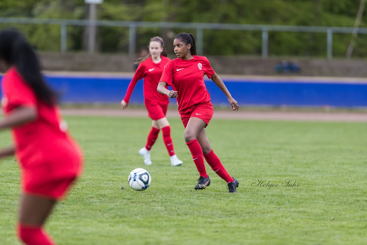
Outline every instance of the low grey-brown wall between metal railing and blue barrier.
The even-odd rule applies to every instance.
[[[132,72],[132,60],[123,54],[41,53],[43,68],[48,71]],[[170,57],[175,58],[175,57]],[[331,60],[287,58],[301,68],[299,73],[277,73],[282,58],[208,56],[219,75],[296,75],[367,77],[367,60]]]

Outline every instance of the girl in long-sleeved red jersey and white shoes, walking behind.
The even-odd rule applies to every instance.
[[[149,54],[138,63],[138,69],[132,78],[125,98],[121,101],[122,109],[125,109],[129,103],[132,90],[138,80],[144,78],[144,104],[148,111],[148,116],[153,120],[152,129],[148,134],[145,147],[139,150],[139,154],[143,156],[144,163],[151,165],[150,149],[155,143],[160,130],[163,132],[163,141],[166,145],[168,154],[170,155],[171,165],[179,166],[182,161],[177,158],[173,149],[171,138],[171,127],[166,118],[168,107],[168,97],[157,92],[157,84],[162,75],[163,68],[170,61],[164,50],[163,39],[160,37],[153,37],[149,42]]]

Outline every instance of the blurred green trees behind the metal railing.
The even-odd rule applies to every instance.
[[[98,8],[98,19],[119,21],[209,22],[270,25],[353,26],[360,0],[108,0]],[[85,19],[84,0],[2,0],[0,14],[7,17]],[[8,25],[1,24],[0,28]],[[367,26],[366,17],[360,27]],[[16,25],[39,50],[59,51],[60,27]],[[137,28],[138,48],[160,35],[172,53],[170,43],[183,28]],[[259,55],[261,33],[235,30],[204,30],[204,54]],[[349,35],[333,35],[334,57],[344,56]],[[68,51],[83,49],[83,28],[68,27]],[[367,55],[367,44],[356,41],[353,56]],[[98,27],[101,52],[127,52],[128,28]],[[322,56],[326,33],[269,33],[270,55]]]

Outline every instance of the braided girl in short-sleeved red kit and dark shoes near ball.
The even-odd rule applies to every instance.
[[[229,192],[234,193],[239,183],[227,173],[206,136],[205,127],[213,116],[213,106],[205,87],[204,75],[211,78],[227,96],[232,111],[238,110],[237,101],[232,98],[222,79],[213,71],[208,59],[196,55],[195,39],[191,33],[179,33],[175,37],[173,47],[178,58],[167,63],[157,91],[178,100],[178,111],[185,126],[186,145],[200,175],[195,189],[205,189],[210,185],[205,169],[205,158],[212,170],[227,182]],[[167,85],[173,86],[177,91],[168,90]]]

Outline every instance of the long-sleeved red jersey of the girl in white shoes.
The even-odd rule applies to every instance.
[[[141,62],[138,69],[135,71],[124,98],[127,103],[130,100],[132,91],[137,82],[144,78],[144,104],[168,104],[168,97],[157,92],[159,79],[162,75],[163,68],[170,61],[170,58],[161,56],[162,60],[158,64],[152,61],[152,57]]]

